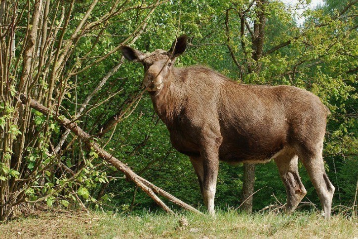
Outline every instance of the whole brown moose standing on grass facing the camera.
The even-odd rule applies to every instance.
[[[219,160],[239,164],[274,159],[287,192],[285,211],[294,211],[306,195],[298,174],[300,159],[328,219],[335,189],[322,158],[328,108],[294,86],[241,84],[202,66],[175,68],[186,47],[187,36],[181,35],[169,51],[146,54],[122,46],[121,52],[144,66],[143,84],[172,145],[189,156],[208,213],[215,215]]]

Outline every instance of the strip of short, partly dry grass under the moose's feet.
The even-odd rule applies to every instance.
[[[188,224],[163,213],[119,215],[92,212],[40,213],[0,225],[0,238],[348,238],[358,237],[358,218],[333,216],[329,221],[317,213],[292,215],[221,211],[216,219],[183,212]]]

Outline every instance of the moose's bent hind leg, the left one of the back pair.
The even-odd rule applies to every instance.
[[[280,155],[275,159],[282,182],[286,188],[286,212],[293,212],[307,191],[298,174],[298,157],[294,154]]]

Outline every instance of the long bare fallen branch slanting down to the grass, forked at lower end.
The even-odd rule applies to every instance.
[[[23,104],[29,103],[30,107],[33,109],[38,110],[42,114],[51,115],[53,114],[50,109],[43,106],[39,102],[36,102],[32,99],[29,99],[24,94],[20,95],[20,100]],[[149,197],[151,197],[160,207],[162,207],[166,212],[175,214],[167,205],[165,205],[159,197],[155,194],[158,193],[159,195],[167,198],[171,202],[176,205],[179,205],[189,211],[193,211],[199,214],[202,214],[199,210],[188,205],[181,200],[175,198],[173,195],[167,193],[166,191],[162,190],[161,188],[155,186],[151,182],[147,181],[146,179],[138,176],[134,173],[128,166],[120,162],[117,158],[115,158],[112,154],[108,153],[107,151],[103,150],[101,146],[96,143],[94,140],[90,140],[91,136],[84,132],[76,123],[72,122],[71,120],[67,119],[63,115],[59,115],[55,120],[61,124],[62,126],[66,127],[67,129],[71,130],[75,135],[82,139],[85,143],[87,148],[93,148],[93,150],[98,154],[98,156],[111,165],[115,166],[119,171],[123,172],[127,178],[132,180],[138,187],[140,187]]]

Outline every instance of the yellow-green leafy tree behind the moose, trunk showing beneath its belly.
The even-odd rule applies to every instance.
[[[302,64],[306,64],[306,70],[310,68],[314,68],[323,62],[318,60],[323,57],[323,55],[317,54],[317,51],[320,51],[318,44],[322,44],[321,40],[317,37],[319,33],[315,33],[315,30],[318,28],[323,32],[323,35],[328,34],[328,32],[333,33],[334,38],[338,40],[340,37],[343,37],[344,34],[351,33],[353,31],[356,34],[355,30],[356,26],[352,26],[354,23],[353,15],[347,14],[347,11],[355,11],[354,5],[357,3],[356,0],[347,1],[346,4],[341,6],[340,11],[336,11],[333,16],[329,16],[328,20],[325,23],[321,23],[323,19],[325,19],[321,13],[308,11],[310,15],[310,20],[315,22],[313,25],[307,22],[308,24],[301,31],[298,26],[296,26],[292,20],[292,10],[288,9],[289,14],[284,12],[284,6],[279,1],[261,1],[261,0],[251,0],[251,1],[242,1],[240,3],[237,2],[229,2],[225,3],[226,7],[226,15],[225,15],[225,35],[226,42],[230,56],[233,59],[235,65],[239,68],[239,80],[243,80],[244,82],[259,82],[259,83],[274,83],[274,84],[295,84],[300,86],[301,84],[297,82],[295,77],[301,74],[301,76],[306,76],[302,70],[298,68],[301,67]],[[298,7],[298,6],[296,6]],[[281,9],[280,9],[281,8]],[[234,12],[234,17],[231,14]],[[269,16],[269,17],[267,17]],[[346,16],[347,19],[346,19]],[[232,17],[233,19],[230,19]],[[326,16],[325,16],[326,17]],[[344,19],[344,20],[343,20]],[[280,25],[280,29],[271,25],[268,34],[270,36],[275,36],[279,38],[281,42],[276,43],[277,39],[267,39],[265,38],[267,22],[276,21]],[[340,24],[343,20],[343,24],[350,25],[351,27],[343,28],[342,32],[336,32],[333,27],[334,24]],[[285,28],[283,32],[282,29]],[[231,29],[239,29],[239,31],[232,31]],[[282,35],[278,34],[278,31],[281,32]],[[333,32],[332,32],[333,31]],[[328,35],[327,35],[328,36]],[[283,40],[282,38],[286,37],[287,40]],[[324,42],[326,44],[323,46],[324,49],[331,49],[337,42],[333,39],[330,39],[331,42]],[[347,45],[342,48],[346,49],[354,49],[351,48],[351,39],[345,41]],[[267,42],[265,42],[267,41]],[[332,43],[333,41],[333,43]],[[343,41],[342,41],[343,43]],[[292,44],[295,44],[292,46]],[[289,51],[285,52],[285,48],[289,47]],[[302,50],[304,49],[304,50]],[[311,56],[307,54],[308,49],[313,50]],[[238,54],[239,52],[239,54]],[[335,55],[337,53],[341,53],[338,51],[332,51],[330,54]],[[271,57],[270,55],[277,54],[275,57]],[[292,62],[289,62],[288,59],[295,58]],[[243,60],[238,60],[243,59]],[[297,59],[300,59],[297,61]],[[276,61],[275,61],[276,60]],[[355,61],[355,60],[354,60]],[[285,63],[285,67],[292,67],[292,70],[286,70],[280,73],[281,80],[277,80],[273,77],[273,74],[270,71],[275,71],[275,69],[279,68],[281,63]],[[307,64],[308,63],[308,64]],[[292,66],[290,66],[292,64]],[[263,66],[266,68],[264,72],[262,72]],[[271,68],[270,66],[275,66],[275,68]],[[274,69],[274,70],[273,70]],[[352,68],[347,71],[355,72],[357,68]],[[285,81],[285,77],[289,78],[289,81]],[[275,76],[274,76],[275,77]],[[342,82],[343,83],[343,82]],[[345,84],[345,83],[343,83]],[[311,89],[308,85],[301,85],[309,90]],[[349,87],[346,87],[348,90]],[[322,96],[322,95],[320,95]],[[242,188],[242,202],[243,208],[249,212],[252,210],[252,195],[254,192],[254,166],[246,164],[244,165],[244,176],[243,176],[243,188]]]

